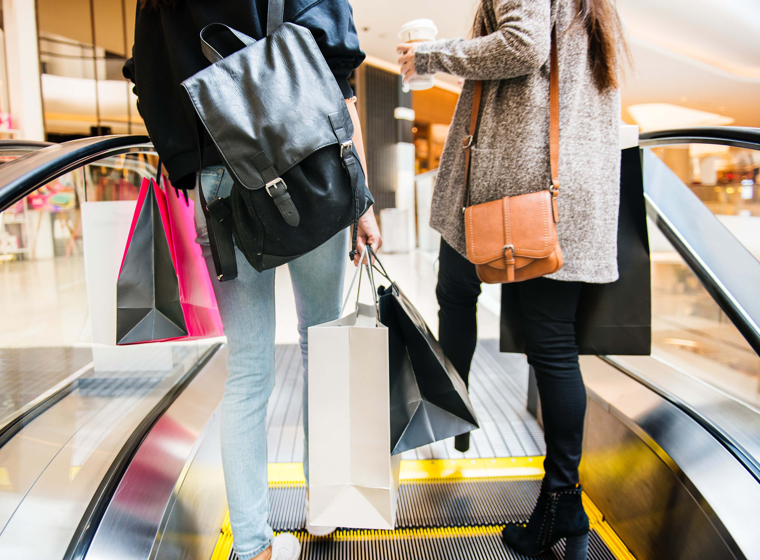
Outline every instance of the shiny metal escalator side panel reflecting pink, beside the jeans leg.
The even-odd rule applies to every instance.
[[[112,488],[112,498],[104,499],[91,542],[84,546],[83,539],[81,552],[65,558],[156,558],[162,546],[192,550],[199,558],[211,555],[226,510],[218,412],[226,356],[226,350],[210,356],[155,421]],[[207,554],[198,552],[202,549]]]

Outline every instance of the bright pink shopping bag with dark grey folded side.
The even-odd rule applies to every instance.
[[[116,283],[116,344],[220,336],[214,288],[195,243],[195,203],[144,179]]]

